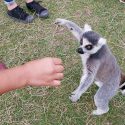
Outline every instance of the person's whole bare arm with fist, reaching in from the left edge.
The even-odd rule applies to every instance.
[[[58,58],[43,58],[0,71],[0,94],[31,86],[58,86],[63,78]]]

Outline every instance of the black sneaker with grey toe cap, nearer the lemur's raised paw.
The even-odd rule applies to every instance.
[[[40,18],[46,18],[49,16],[48,10],[35,0],[26,0],[26,6],[30,11],[35,12]]]

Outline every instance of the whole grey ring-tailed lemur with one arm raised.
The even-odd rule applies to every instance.
[[[108,112],[109,101],[117,94],[120,81],[120,89],[125,93],[125,84],[123,84],[125,76],[121,75],[120,67],[108,48],[106,39],[94,32],[88,24],[85,24],[82,29],[75,23],[65,19],[58,18],[55,23],[66,26],[80,42],[77,52],[81,56],[84,73],[81,77],[80,85],[69,97],[70,100],[72,102],[78,101],[81,95],[95,81],[99,86],[99,90],[94,96],[97,110],[94,110],[92,114],[102,115]]]

